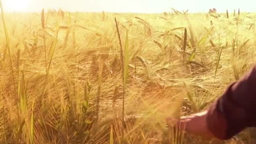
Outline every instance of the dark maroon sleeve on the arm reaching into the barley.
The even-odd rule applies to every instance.
[[[256,67],[227,87],[209,108],[206,122],[209,131],[223,140],[256,126]]]

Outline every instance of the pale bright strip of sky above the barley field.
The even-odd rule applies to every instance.
[[[254,0],[2,0],[4,11],[40,12],[42,8],[61,8],[80,12],[163,13],[171,8],[189,13],[240,11],[255,12]]]

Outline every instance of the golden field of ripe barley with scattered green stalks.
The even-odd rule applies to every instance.
[[[4,13],[1,144],[206,141],[166,117],[207,109],[256,60],[254,13]]]

